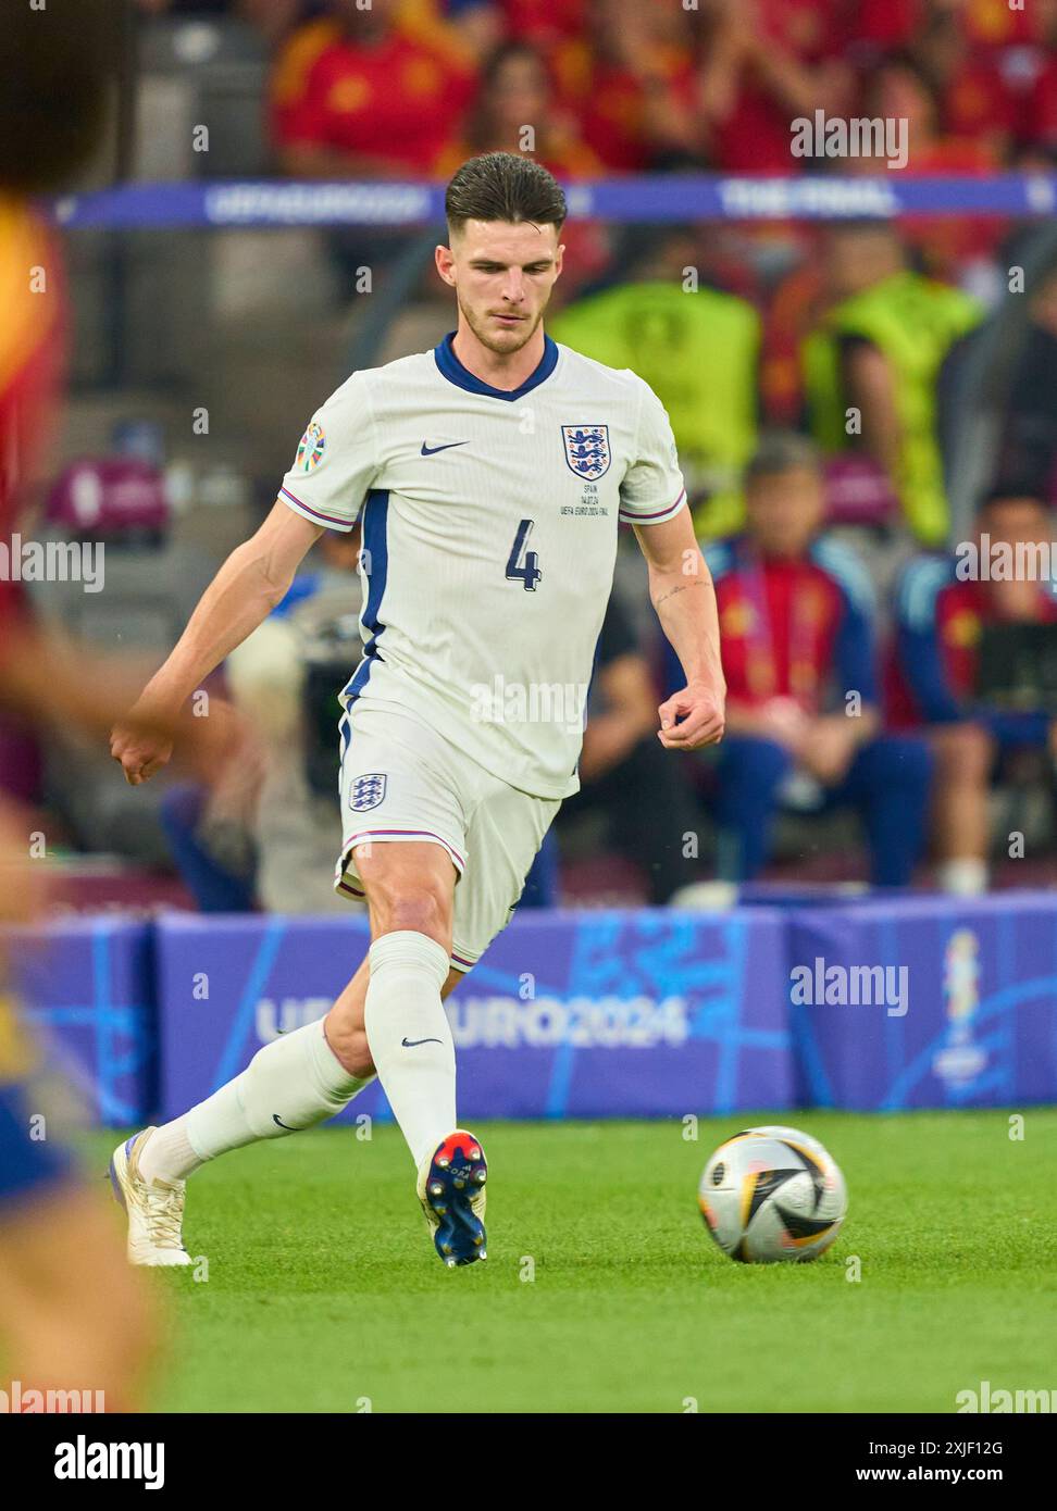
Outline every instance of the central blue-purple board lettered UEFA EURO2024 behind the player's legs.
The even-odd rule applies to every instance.
[[[321,1017],[367,947],[345,919],[157,926],[162,1115]],[[750,969],[752,961],[752,969]],[[448,1003],[461,1118],[685,1117],[786,1106],[785,925],[764,908],[516,919]],[[375,1083],[352,1112],[387,1115]]]

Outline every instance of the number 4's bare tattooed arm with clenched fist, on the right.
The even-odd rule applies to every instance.
[[[727,684],[715,588],[690,509],[659,524],[637,524],[635,538],[649,568],[650,601],[687,675],[687,686],[658,709],[658,739],[676,751],[715,745],[723,739]]]

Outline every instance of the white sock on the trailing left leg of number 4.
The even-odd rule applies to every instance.
[[[345,1070],[318,1018],[265,1044],[234,1080],[153,1133],[141,1173],[145,1180],[186,1180],[231,1148],[333,1118],[370,1080]]]

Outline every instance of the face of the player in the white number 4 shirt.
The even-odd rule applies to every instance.
[[[540,326],[561,272],[564,246],[553,225],[467,221],[437,248],[437,267],[482,346],[517,352]]]

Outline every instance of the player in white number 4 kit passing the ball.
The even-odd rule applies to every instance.
[[[687,751],[723,733],[712,582],[668,417],[634,373],[558,346],[543,314],[566,199],[531,159],[470,159],[436,252],[458,329],[436,351],[357,372],[318,411],[262,529],[237,547],[144,694],[172,718],[287,591],[324,529],[352,530],[363,659],[342,701],[336,885],[366,893],[372,944],[325,1018],[266,1044],[227,1086],[113,1156],[130,1253],[174,1242],[204,1160],[340,1112],[375,1073],[408,1142],[448,1265],[484,1254],[485,1165],[455,1121],[443,997],[507,926],[563,798],[578,789],[584,706],[612,586],[618,520],[685,686],[658,731]],[[126,778],[166,757],[118,728]]]

